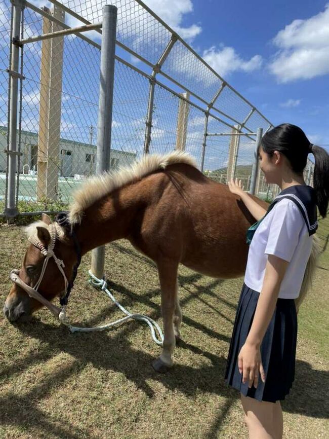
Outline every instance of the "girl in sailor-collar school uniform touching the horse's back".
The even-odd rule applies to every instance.
[[[303,178],[310,153],[315,158],[314,189]],[[266,133],[258,155],[267,184],[277,184],[281,192],[266,212],[240,182],[229,183],[259,221],[248,233],[251,244],[225,380],[241,393],[249,437],[280,439],[280,400],[290,392],[295,375],[295,299],[317,228],[316,206],[326,216],[329,156],[291,124]]]

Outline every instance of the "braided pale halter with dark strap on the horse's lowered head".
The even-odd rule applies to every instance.
[[[66,275],[65,275],[65,272],[63,270],[63,268],[65,268],[63,261],[58,259],[56,257],[56,254],[54,253],[55,242],[56,242],[56,238],[58,236],[58,231],[57,231],[58,226],[57,226],[57,224],[54,224],[54,223],[49,225],[50,243],[48,245],[48,248],[46,248],[44,246],[44,244],[42,244],[42,242],[40,242],[36,238],[36,236],[30,236],[28,238],[29,242],[32,245],[34,245],[34,247],[38,248],[40,250],[40,252],[45,256],[43,268],[41,270],[40,276],[39,276],[37,282],[35,283],[34,287],[32,288],[31,286],[27,285],[19,277],[19,270],[17,270],[17,269],[14,269],[11,271],[10,278],[13,282],[15,282],[21,288],[23,288],[30,297],[32,297],[33,299],[36,299],[37,301],[39,301],[40,303],[45,305],[56,317],[59,317],[60,320],[63,321],[64,319],[66,319],[65,306],[67,305],[68,297],[70,295],[71,289],[73,287],[73,282],[74,282],[76,274],[77,274],[77,269],[78,269],[78,266],[80,265],[80,262],[81,262],[81,249],[80,249],[80,245],[78,243],[78,240],[76,238],[76,235],[70,226],[67,212],[60,212],[56,216],[55,222],[58,223],[59,226],[63,227],[69,233],[70,237],[73,239],[74,248],[75,248],[75,251],[77,254],[77,263],[73,267],[73,273],[72,273],[72,277],[71,277],[70,281],[68,282]],[[56,305],[49,302],[42,295],[40,295],[39,292],[37,291],[38,287],[40,286],[40,283],[43,280],[48,262],[51,258],[54,258],[55,264],[64,278],[65,295],[64,295],[64,297],[60,298],[60,304],[61,304],[62,308],[59,308]]]

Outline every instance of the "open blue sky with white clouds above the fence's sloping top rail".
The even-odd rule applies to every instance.
[[[179,25],[199,27],[190,44],[225,80],[273,124],[299,125],[329,150],[329,3],[171,3],[190,3]]]

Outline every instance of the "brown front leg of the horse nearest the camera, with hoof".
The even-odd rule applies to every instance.
[[[163,346],[161,355],[152,362],[156,372],[165,373],[173,365],[172,354],[175,349],[174,311],[177,295],[178,264],[172,261],[157,263],[161,287],[161,312],[163,318]]]

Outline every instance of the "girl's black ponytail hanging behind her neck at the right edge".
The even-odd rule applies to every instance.
[[[325,218],[329,201],[329,155],[316,145],[310,145],[310,150],[314,155],[314,190],[316,193],[316,204],[320,215]]]

